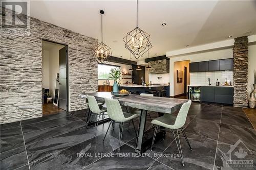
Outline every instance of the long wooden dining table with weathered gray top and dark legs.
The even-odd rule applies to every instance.
[[[135,146],[136,153],[143,152],[143,136],[145,132],[146,114],[147,111],[154,111],[158,113],[172,114],[180,109],[183,103],[188,100],[175,98],[161,98],[156,96],[141,96],[130,94],[127,96],[113,96],[111,92],[90,92],[81,93],[80,98],[86,98],[86,95],[93,95],[99,102],[104,102],[104,99],[116,99],[120,105],[132,107],[141,110],[139,129],[137,134],[137,141]],[[108,109],[108,108],[107,108]]]

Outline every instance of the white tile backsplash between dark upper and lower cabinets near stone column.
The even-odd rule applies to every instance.
[[[220,85],[224,85],[226,78],[227,81],[233,85],[233,71],[209,71],[209,72],[191,72],[190,85],[208,85],[208,78],[212,86],[215,85],[217,79]]]

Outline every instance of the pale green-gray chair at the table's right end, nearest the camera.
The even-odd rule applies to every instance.
[[[188,102],[183,103],[176,118],[174,118],[172,115],[165,114],[161,117],[157,117],[154,120],[152,120],[152,124],[155,124],[156,128],[155,128],[153,141],[152,141],[152,145],[151,145],[151,151],[153,148],[153,144],[155,142],[157,130],[161,130],[159,127],[161,126],[161,127],[167,128],[173,132],[183,166],[185,166],[185,164],[184,164],[183,154],[182,154],[182,150],[181,150],[180,137],[179,137],[178,130],[181,130],[181,132],[183,133],[183,135],[185,137],[185,140],[187,141],[189,149],[192,150],[191,146],[189,144],[189,141],[187,139],[187,136],[182,128],[185,125],[187,113],[188,113],[190,105],[191,105],[191,100],[188,100]],[[174,130],[177,130],[177,136],[175,135]],[[178,138],[179,144],[178,144],[176,138]]]

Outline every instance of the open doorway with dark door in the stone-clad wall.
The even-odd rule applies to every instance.
[[[42,40],[42,114],[68,111],[68,46]]]

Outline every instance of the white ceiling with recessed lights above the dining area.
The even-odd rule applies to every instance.
[[[104,10],[103,42],[113,56],[130,58],[122,39],[136,27],[136,1],[31,1],[30,7],[32,17],[98,39]],[[161,56],[256,34],[256,1],[139,1],[139,27],[151,35],[150,57]]]

